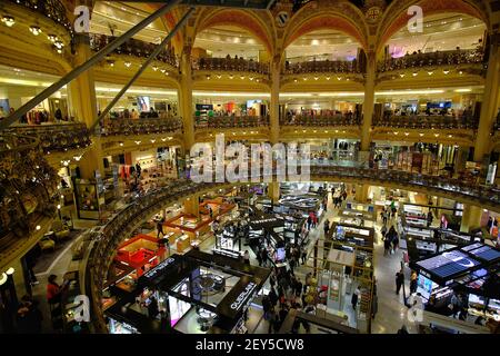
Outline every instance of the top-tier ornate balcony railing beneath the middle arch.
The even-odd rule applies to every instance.
[[[284,75],[304,75],[304,73],[360,73],[363,72],[357,60],[313,60],[299,63],[286,63]]]

